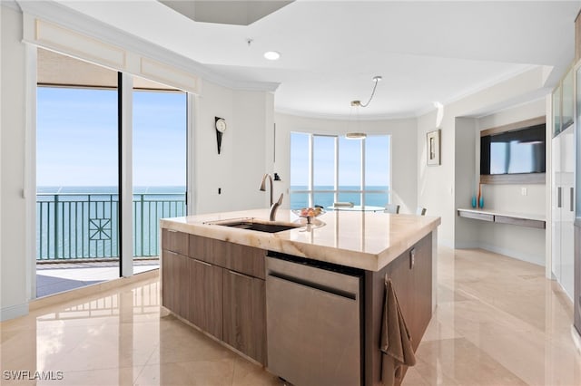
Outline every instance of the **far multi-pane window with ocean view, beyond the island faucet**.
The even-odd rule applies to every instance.
[[[291,132],[291,209],[389,203],[389,135],[349,140]]]

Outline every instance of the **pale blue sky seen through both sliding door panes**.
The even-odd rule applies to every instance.
[[[186,95],[133,92],[133,185],[182,186]],[[117,185],[117,92],[37,89],[36,181]]]

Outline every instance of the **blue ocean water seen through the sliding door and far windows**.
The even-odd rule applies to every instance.
[[[307,187],[291,187],[291,209],[309,207]],[[314,205],[335,202],[332,187],[316,187]],[[359,187],[340,187],[339,201],[361,204]],[[385,207],[388,187],[365,193],[366,205]],[[116,187],[38,187],[36,195],[36,258],[38,260],[114,258],[119,256],[119,197]],[[133,254],[159,255],[159,219],[186,215],[185,187],[135,187],[133,190]]]

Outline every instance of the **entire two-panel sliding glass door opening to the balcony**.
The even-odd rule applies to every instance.
[[[187,213],[187,93],[37,53],[36,296],[158,267],[160,218]]]

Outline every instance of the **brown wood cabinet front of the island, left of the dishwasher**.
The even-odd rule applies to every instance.
[[[265,364],[266,251],[167,229],[162,250],[162,304]]]

